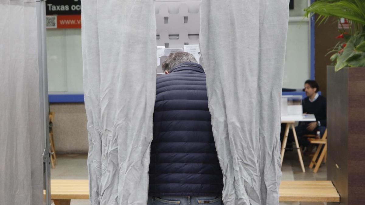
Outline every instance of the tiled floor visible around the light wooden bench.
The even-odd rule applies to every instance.
[[[313,173],[309,169],[310,159],[303,157],[306,173],[301,171],[298,155],[296,152],[286,152],[283,162],[282,180],[326,180],[326,165],[319,168],[318,173]],[[88,179],[87,155],[72,154],[58,155],[58,164],[55,169],[51,169],[51,179]],[[71,205],[89,205],[89,200],[71,200]],[[326,205],[326,203],[308,203],[308,202],[280,202],[280,205]]]

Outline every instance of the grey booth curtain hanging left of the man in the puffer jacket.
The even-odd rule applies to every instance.
[[[147,203],[156,93],[153,0],[82,2],[91,204]]]

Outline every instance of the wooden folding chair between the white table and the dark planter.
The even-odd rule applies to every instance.
[[[313,166],[315,165],[313,172],[317,173],[319,166],[322,164],[323,158],[325,158],[325,156],[327,155],[327,129],[326,131],[324,131],[324,134],[320,139],[312,138],[313,136],[315,137],[315,135],[306,136],[309,137],[308,140],[311,144],[318,144],[317,150],[312,158],[311,164],[309,165],[309,168],[313,168]]]

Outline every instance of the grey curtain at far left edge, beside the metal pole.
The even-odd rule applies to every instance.
[[[43,204],[35,0],[0,0],[0,204]]]

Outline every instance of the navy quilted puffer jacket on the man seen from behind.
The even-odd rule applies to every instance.
[[[205,73],[199,64],[182,63],[157,78],[153,121],[149,195],[222,195]]]

